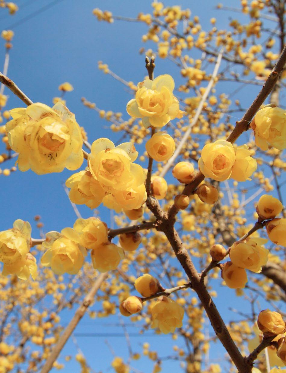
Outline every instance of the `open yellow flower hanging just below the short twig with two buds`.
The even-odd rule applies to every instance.
[[[176,327],[183,326],[184,309],[164,295],[158,298],[151,310],[151,328],[158,327],[162,333],[174,333]]]

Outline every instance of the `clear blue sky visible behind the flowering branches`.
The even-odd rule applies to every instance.
[[[110,1],[110,0],[62,0],[55,5],[39,13],[33,18],[27,18],[38,10],[49,6],[51,0],[19,0],[19,12],[15,16],[8,16],[7,10],[0,9],[1,29],[9,29],[12,26],[15,31],[13,49],[10,53],[10,64],[8,70],[9,78],[28,95],[34,102],[42,102],[52,105],[52,98],[58,96],[58,85],[68,81],[74,86],[74,91],[66,94],[67,106],[75,113],[77,122],[84,126],[89,141],[92,142],[99,137],[108,137],[116,141],[118,134],[110,131],[108,122],[99,118],[98,114],[87,109],[81,104],[80,98],[95,102],[100,109],[122,112],[127,118],[126,103],[131,96],[120,82],[111,76],[103,74],[97,68],[97,61],[102,60],[109,68],[125,80],[137,82],[146,75],[144,55],[138,50],[145,46],[141,42],[142,34],[147,26],[141,23],[98,22],[92,14],[95,7],[102,10],[110,10],[114,15],[136,17],[140,11],[151,12],[151,2],[147,1]],[[209,29],[209,19],[216,17],[218,27],[227,28],[229,23],[229,12],[218,11],[215,5],[218,1],[187,1],[181,0],[182,8],[189,7],[193,15],[199,15],[203,28]],[[229,6],[239,6],[240,1],[228,0]],[[165,5],[174,4],[173,1],[165,1]],[[22,5],[22,9],[21,9]],[[203,5],[203,6],[202,6]],[[232,14],[234,16],[234,14]],[[235,14],[235,17],[241,17]],[[25,21],[26,19],[26,21]],[[21,21],[23,20],[23,21]],[[19,22],[19,23],[18,23]],[[22,22],[22,23],[21,23]],[[13,27],[13,25],[15,26]],[[4,61],[4,41],[0,43],[0,66]],[[150,44],[151,46],[151,44]],[[1,68],[0,68],[1,70]],[[171,73],[176,82],[180,82],[179,69],[176,69],[169,60],[157,61],[156,75]],[[229,85],[229,83],[228,83]],[[223,84],[221,91],[225,90]],[[244,88],[241,95],[243,107],[247,107],[250,100],[255,97],[260,87]],[[228,91],[232,86],[228,86]],[[21,101],[10,91],[5,89],[9,95],[7,109],[23,106]],[[233,123],[235,118],[232,118]],[[11,161],[9,167],[13,165]],[[40,214],[44,222],[45,231],[60,231],[66,226],[72,226],[76,219],[71,204],[62,188],[62,183],[72,174],[65,170],[62,173],[38,176],[31,171],[13,173],[9,177],[0,176],[1,180],[1,220],[0,230],[8,229],[14,220],[28,220],[33,225],[33,217]],[[83,217],[89,217],[90,210],[84,206],[78,207]],[[102,220],[110,225],[110,214],[106,209],[99,208]],[[34,236],[38,235],[33,226]],[[228,304],[237,306],[240,299],[233,297],[234,292],[224,288],[222,290],[219,309],[222,316],[230,317],[227,310]],[[225,300],[228,300],[227,302]],[[233,316],[233,315],[231,315]],[[71,318],[71,312],[63,313],[62,322],[67,324]],[[118,323],[117,317],[108,319],[91,320],[85,317],[76,330],[77,333],[120,333],[122,336],[109,337],[109,343],[115,350],[116,355],[126,357],[128,354],[123,336],[122,328],[107,326],[106,323]],[[138,333],[139,329],[131,327],[131,333]],[[148,338],[147,338],[148,335]],[[84,339],[77,337],[79,347],[84,351],[90,366],[98,372],[107,372],[112,354],[104,343],[108,337],[94,337]],[[151,331],[146,332],[146,337],[131,337],[134,344],[134,352],[141,352],[140,345],[148,341],[154,350],[161,352],[163,356],[171,353],[170,346],[173,344],[170,337],[153,336]],[[178,341],[178,345],[182,344]],[[64,349],[64,354],[74,355],[76,352],[74,343],[69,341]],[[224,350],[216,344],[211,353],[212,358],[222,358]],[[61,361],[61,360],[60,360]],[[145,367],[134,362],[133,366],[144,373],[151,372],[152,364],[144,360]],[[173,363],[163,364],[163,372],[180,372],[178,365]],[[55,370],[56,371],[56,370]],[[79,366],[74,362],[65,363],[62,372],[79,372]],[[183,372],[183,370],[181,370]]]

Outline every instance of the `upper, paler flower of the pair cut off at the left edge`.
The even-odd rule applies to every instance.
[[[30,249],[31,231],[30,223],[18,219],[12,229],[0,232],[0,261],[10,265],[25,258]]]

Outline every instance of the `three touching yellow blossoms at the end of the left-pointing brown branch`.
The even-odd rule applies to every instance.
[[[99,272],[115,269],[124,258],[123,249],[108,240],[106,224],[96,217],[77,219],[73,228],[64,228],[61,233],[46,233],[43,246],[48,250],[41,264],[51,267],[57,275],[78,273],[87,255],[86,249],[91,250],[93,267]]]

